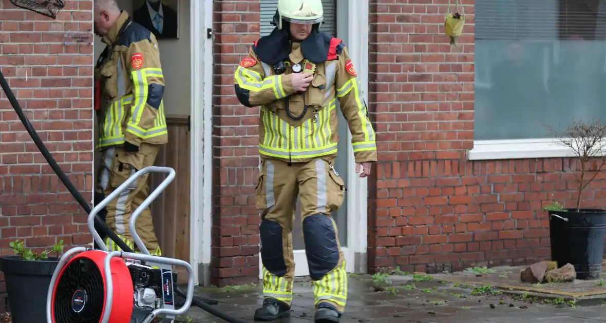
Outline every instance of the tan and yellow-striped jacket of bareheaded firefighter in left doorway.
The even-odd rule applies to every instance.
[[[166,143],[164,76],[155,36],[122,11],[102,41],[107,47],[95,67],[98,148]]]

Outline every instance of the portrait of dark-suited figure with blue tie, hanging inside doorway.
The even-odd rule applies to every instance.
[[[133,0],[133,21],[157,39],[179,38],[179,0]]]

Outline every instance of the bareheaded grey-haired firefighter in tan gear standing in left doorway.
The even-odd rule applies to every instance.
[[[115,0],[95,0],[95,33],[107,45],[95,67],[95,110],[99,120],[101,168],[95,203],[139,169],[152,166],[167,142],[164,77],[155,36],[133,22]],[[132,212],[149,195],[147,174],[105,207],[105,221],[133,250],[128,231]],[[103,218],[103,214],[100,214]],[[152,255],[161,255],[149,207],[137,220],[137,232]],[[109,238],[109,250],[119,247]]]

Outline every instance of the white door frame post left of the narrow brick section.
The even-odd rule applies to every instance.
[[[190,264],[196,285],[210,284],[212,188],[213,0],[190,0],[191,189]],[[196,19],[202,18],[202,19]],[[214,38],[214,36],[213,36]],[[201,89],[204,89],[201,91]],[[206,165],[206,167],[205,167]],[[202,198],[200,198],[202,197]],[[202,203],[200,203],[202,201]]]

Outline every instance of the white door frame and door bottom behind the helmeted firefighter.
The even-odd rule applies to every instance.
[[[347,51],[354,62],[358,79],[362,83],[361,91],[368,102],[368,0],[336,0],[337,12],[347,13]],[[347,10],[339,6],[347,5]],[[351,142],[351,133],[347,132],[347,142]],[[367,271],[367,204],[368,180],[356,174],[353,146],[347,145],[349,165],[347,166],[347,247],[343,247],[345,270],[348,273]],[[259,278],[263,278],[259,253]],[[295,276],[308,276],[307,256],[304,250],[295,250]]]

